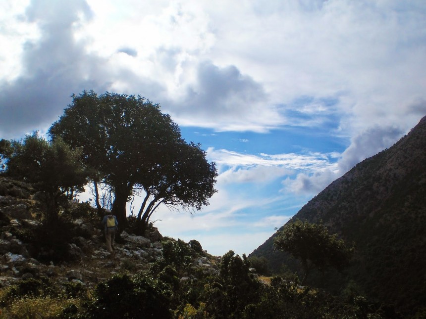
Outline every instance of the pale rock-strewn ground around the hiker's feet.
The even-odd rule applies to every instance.
[[[93,287],[115,273],[136,273],[148,269],[150,264],[162,258],[163,237],[155,227],[145,236],[123,231],[116,240],[114,251],[108,253],[102,230],[79,219],[73,221],[75,232],[90,236],[72,238],[67,244],[68,262],[44,260],[42,263],[31,253],[32,243],[19,239],[22,233],[31,232],[39,226],[40,222],[33,218],[31,205],[29,200],[0,196],[0,288],[18,280],[43,276],[58,282],[81,282]],[[193,268],[200,268],[203,273],[216,273],[220,258],[207,253],[204,255],[193,257]],[[189,279],[190,275],[186,274],[181,278],[182,281]]]

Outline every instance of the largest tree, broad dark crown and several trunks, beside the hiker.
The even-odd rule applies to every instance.
[[[216,191],[215,164],[206,160],[200,144],[187,143],[170,116],[141,96],[72,95],[49,133],[82,148],[94,185],[111,187],[112,212],[121,229],[133,195],[143,198],[137,220],[144,228],[160,204],[199,210]]]

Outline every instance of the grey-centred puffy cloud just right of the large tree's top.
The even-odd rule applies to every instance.
[[[170,113],[182,125],[216,131],[266,132],[283,121],[278,109],[268,105],[261,84],[233,65],[219,67],[212,61],[197,65],[195,81]]]

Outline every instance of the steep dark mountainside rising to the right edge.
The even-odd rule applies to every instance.
[[[323,221],[355,243],[351,266],[312,284],[338,291],[351,280],[373,300],[412,313],[426,304],[426,117],[389,149],[357,164],[310,200],[289,221]],[[250,256],[272,271],[298,263],[273,251],[271,236]],[[249,257],[250,257],[249,256]]]

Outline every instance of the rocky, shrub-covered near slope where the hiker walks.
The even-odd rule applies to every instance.
[[[0,176],[1,319],[398,318],[357,298],[259,277],[244,255],[215,257],[155,227],[144,236],[125,229],[109,253],[88,203],[64,203],[53,228],[37,198],[32,184]]]

